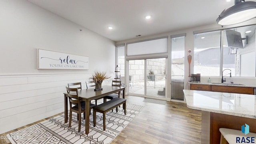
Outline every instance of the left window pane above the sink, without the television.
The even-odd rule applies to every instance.
[[[194,74],[220,75],[220,30],[194,34]]]

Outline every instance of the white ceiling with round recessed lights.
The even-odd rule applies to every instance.
[[[218,15],[234,5],[234,0],[28,1],[115,42],[215,24]]]

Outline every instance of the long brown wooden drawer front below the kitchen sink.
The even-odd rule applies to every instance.
[[[213,92],[229,92],[237,94],[253,94],[254,88],[239,86],[212,86]]]

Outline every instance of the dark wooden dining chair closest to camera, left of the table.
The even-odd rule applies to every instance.
[[[68,88],[66,87],[69,99],[69,123],[68,127],[71,126],[72,121],[72,112],[76,112],[78,114],[78,132],[81,130],[81,114],[84,113],[85,119],[85,104],[80,102],[80,98],[78,96],[78,88]],[[94,104],[90,103],[90,110],[94,107]]]

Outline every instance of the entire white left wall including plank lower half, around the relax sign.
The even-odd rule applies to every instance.
[[[89,70],[38,70],[38,48],[89,56]],[[0,0],[0,49],[0,134],[64,112],[67,83],[115,69],[115,42],[26,0]]]

